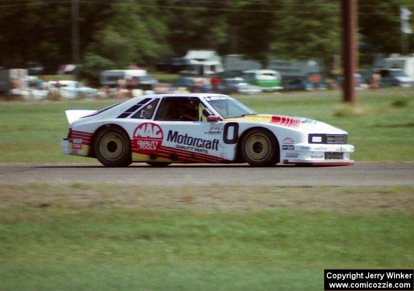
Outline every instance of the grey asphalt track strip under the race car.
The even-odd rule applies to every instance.
[[[0,184],[122,183],[146,185],[392,186],[414,185],[414,163],[356,163],[353,166],[255,168],[247,164],[0,165]]]

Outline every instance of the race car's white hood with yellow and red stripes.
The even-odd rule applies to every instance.
[[[317,120],[287,115],[257,114],[240,118],[225,119],[225,121],[251,122],[270,124],[275,127],[288,127],[306,133],[346,134],[346,131]]]

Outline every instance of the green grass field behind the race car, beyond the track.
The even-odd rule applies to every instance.
[[[414,91],[360,91],[358,95],[354,109],[343,107],[339,91],[236,97],[260,113],[314,118],[348,131],[356,161],[413,161]],[[115,102],[1,102],[0,163],[93,162],[60,153],[68,129],[64,111],[100,109]]]

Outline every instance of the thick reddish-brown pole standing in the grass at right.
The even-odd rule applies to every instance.
[[[355,76],[358,69],[358,0],[342,0],[342,36],[343,36],[343,101],[357,104]]]

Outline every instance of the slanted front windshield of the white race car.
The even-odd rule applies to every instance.
[[[243,117],[245,115],[256,115],[256,112],[254,112],[252,109],[230,97],[213,96],[207,97],[206,101],[223,118],[236,118]]]

